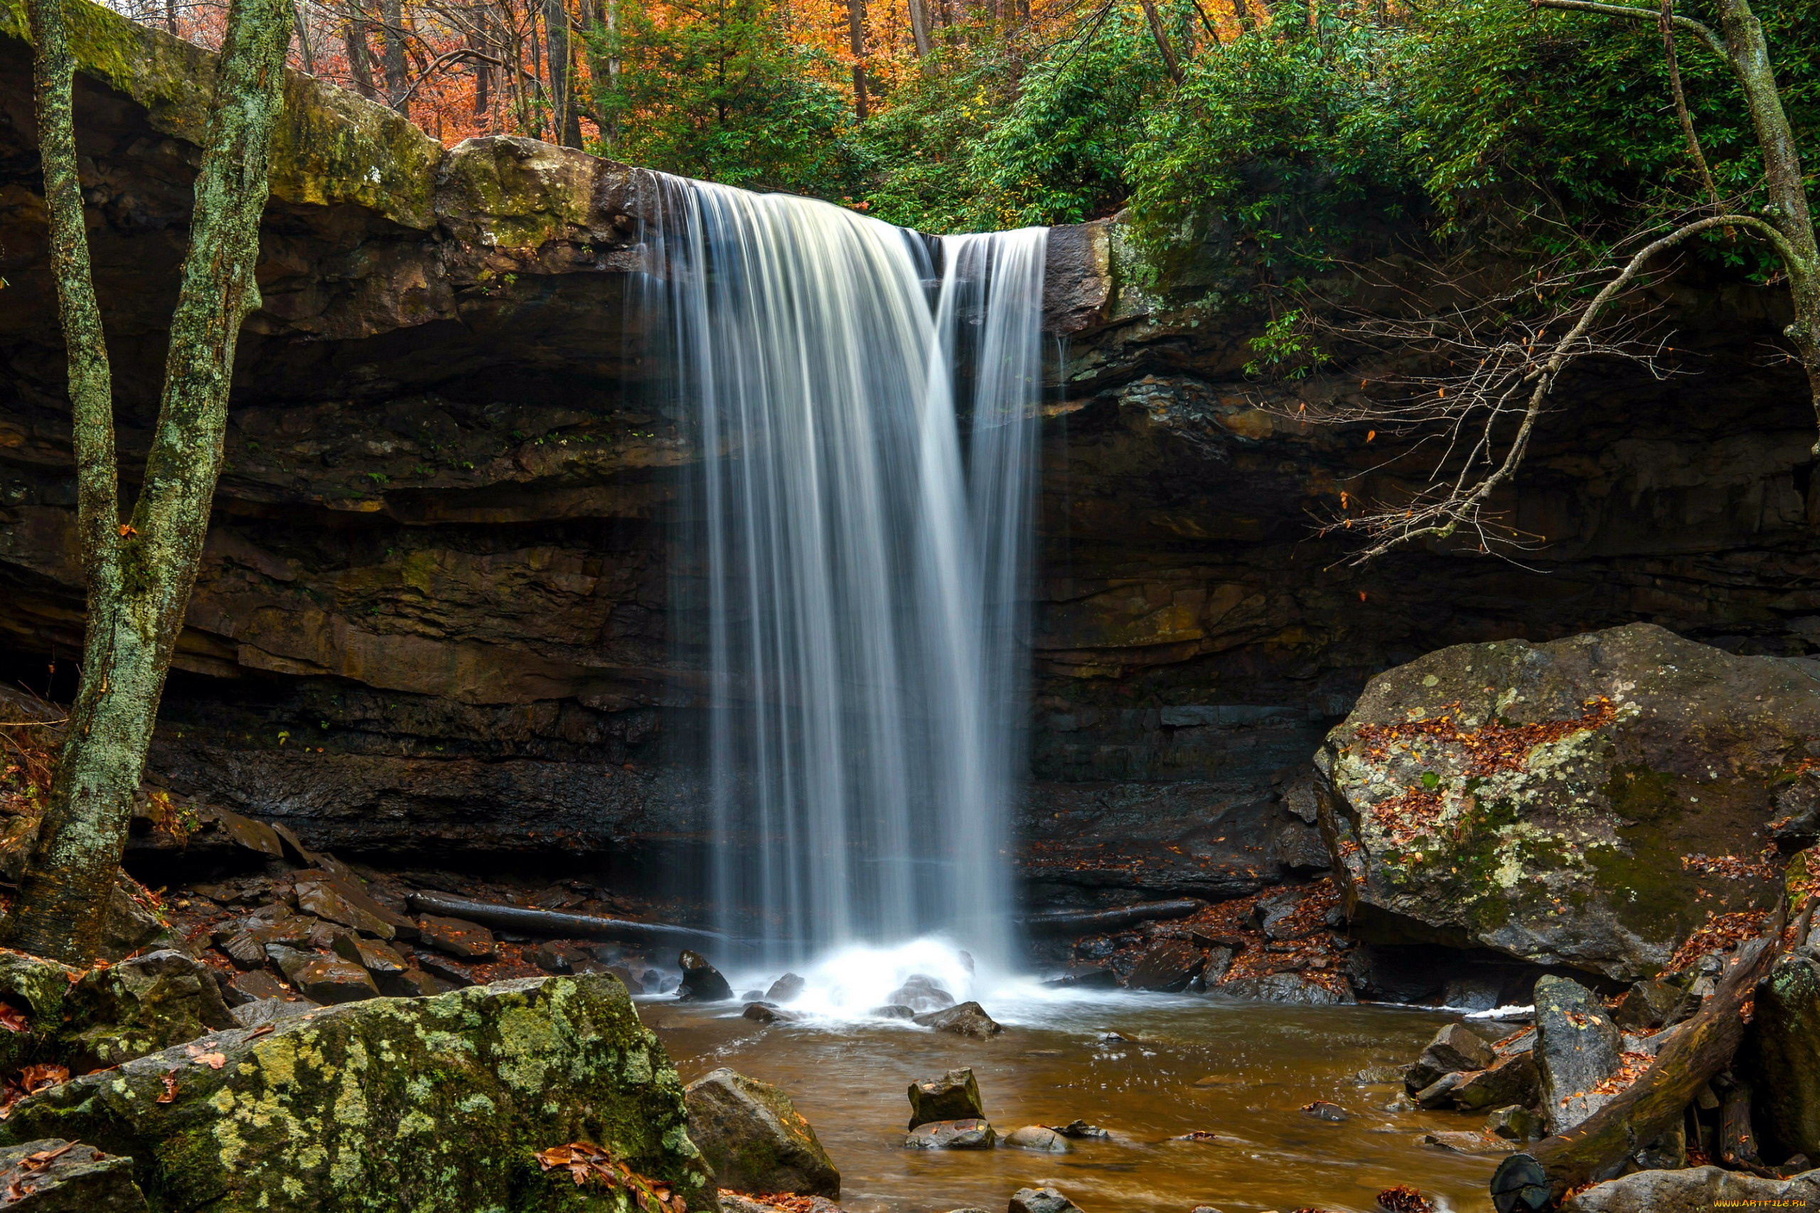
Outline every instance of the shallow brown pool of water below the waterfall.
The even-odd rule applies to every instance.
[[[684,1082],[728,1065],[788,1091],[841,1169],[841,1204],[854,1213],[997,1213],[1019,1188],[1045,1184],[1087,1213],[1376,1213],[1376,1195],[1394,1184],[1420,1188],[1438,1209],[1491,1209],[1494,1158],[1421,1144],[1429,1131],[1476,1129],[1483,1113],[1387,1111],[1401,1086],[1360,1076],[1414,1060],[1456,1016],[1108,994],[988,1004],[1006,1031],[968,1040],[879,1020],[766,1027],[739,1018],[739,1005],[641,1011]],[[903,1149],[908,1084],[961,1065],[1001,1135],[1081,1118],[1112,1138],[1074,1142],[1068,1155]],[[1347,1120],[1305,1115],[1312,1100],[1340,1104]],[[1168,1140],[1192,1131],[1216,1140]]]

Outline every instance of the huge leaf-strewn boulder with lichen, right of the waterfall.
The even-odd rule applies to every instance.
[[[1816,670],[1633,623],[1380,674],[1316,756],[1354,923],[1654,976],[1709,911],[1771,900],[1769,825],[1820,778]]]

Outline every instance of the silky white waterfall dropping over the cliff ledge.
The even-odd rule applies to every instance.
[[[935,933],[1001,960],[1046,229],[655,184],[719,925],[783,963]]]

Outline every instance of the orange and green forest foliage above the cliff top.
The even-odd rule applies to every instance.
[[[215,0],[118,2],[220,25]],[[1407,219],[1558,255],[1704,188],[1658,29],[1525,0],[298,4],[293,66],[444,142],[522,133],[925,231],[1127,209],[1154,251],[1294,271]],[[1811,148],[1820,0],[1756,11]],[[1678,64],[1718,189],[1760,204],[1736,80],[1698,38]]]

